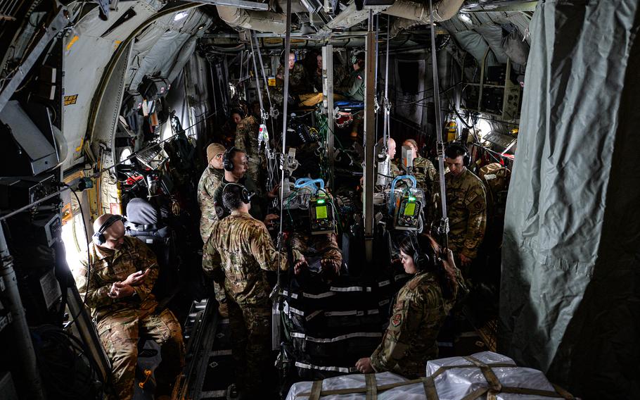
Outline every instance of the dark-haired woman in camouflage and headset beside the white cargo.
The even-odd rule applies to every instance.
[[[356,368],[361,373],[391,371],[414,379],[425,376],[427,361],[437,358],[440,327],[467,290],[452,251],[440,261],[428,239],[420,237],[405,239],[400,255],[404,271],[415,276],[399,290],[382,342],[371,357],[360,358]]]

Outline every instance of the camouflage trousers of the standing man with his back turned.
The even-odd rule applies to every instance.
[[[229,324],[236,361],[236,385],[251,399],[264,393],[264,373],[269,365],[271,307],[264,304],[242,304],[227,301]]]

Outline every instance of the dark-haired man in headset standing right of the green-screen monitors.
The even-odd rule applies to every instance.
[[[449,172],[444,175],[449,217],[449,249],[468,277],[473,259],[485,237],[487,225],[487,195],[479,177],[466,168],[466,149],[451,144],[444,151],[444,163]],[[436,187],[439,187],[437,185]]]

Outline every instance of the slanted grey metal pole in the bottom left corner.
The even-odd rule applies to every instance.
[[[24,399],[44,399],[44,391],[40,380],[40,373],[37,367],[36,354],[31,341],[31,333],[27,325],[27,317],[23,302],[20,300],[18,292],[18,279],[13,270],[13,258],[9,254],[9,249],[4,237],[2,225],[0,225],[0,279],[4,282],[4,291],[0,292],[2,304],[8,308],[13,318],[13,322],[7,327],[13,333],[13,343],[15,351],[20,356],[15,363],[20,365],[19,379],[14,379],[20,383],[18,390],[22,392]],[[18,377],[16,377],[18,378]],[[26,395],[25,395],[26,394]]]

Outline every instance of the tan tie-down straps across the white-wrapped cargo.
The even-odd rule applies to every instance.
[[[570,393],[558,387],[557,385],[553,385],[553,388],[556,389],[555,392],[551,392],[550,390],[540,390],[540,389],[528,389],[525,387],[506,387],[501,385],[498,377],[493,372],[491,368],[516,368],[517,365],[513,363],[490,363],[485,364],[477,358],[468,356],[464,357],[466,361],[469,361],[471,365],[447,365],[446,367],[438,368],[435,373],[429,377],[421,377],[414,380],[407,380],[405,382],[396,382],[390,383],[388,385],[376,385],[376,374],[366,374],[365,387],[358,387],[354,389],[333,389],[333,390],[322,390],[322,382],[324,380],[316,380],[313,382],[311,387],[311,392],[300,393],[297,394],[296,397],[308,396],[309,400],[319,400],[321,396],[330,396],[333,394],[355,394],[355,393],[365,393],[366,400],[377,400],[378,392],[384,392],[385,390],[394,389],[396,387],[402,387],[407,385],[414,385],[416,383],[422,383],[425,396],[427,400],[439,400],[437,395],[437,390],[435,389],[435,378],[444,373],[446,370],[451,370],[454,368],[480,368],[482,375],[485,376],[487,383],[489,383],[488,387],[481,387],[466,396],[464,396],[461,400],[474,400],[479,399],[481,396],[487,395],[487,400],[496,400],[496,394],[499,393],[512,393],[512,394],[533,394],[536,396],[542,397],[561,397],[566,400],[575,400]]]

